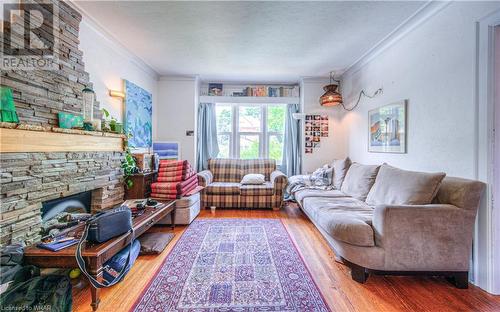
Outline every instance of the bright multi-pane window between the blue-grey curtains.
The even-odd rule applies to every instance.
[[[285,104],[217,104],[219,158],[283,157]]]

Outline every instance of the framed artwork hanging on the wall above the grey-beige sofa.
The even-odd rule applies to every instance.
[[[406,153],[406,105],[399,101],[368,112],[368,151]]]

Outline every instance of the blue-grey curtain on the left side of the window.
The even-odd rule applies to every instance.
[[[198,106],[198,155],[196,169],[198,172],[208,169],[208,160],[219,154],[217,143],[217,124],[215,103],[200,103]]]

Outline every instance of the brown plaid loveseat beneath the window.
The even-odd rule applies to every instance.
[[[262,185],[241,185],[243,176],[260,173]],[[198,184],[204,186],[201,204],[220,208],[280,209],[288,180],[276,170],[274,159],[224,159],[208,161],[208,170],[198,173]]]

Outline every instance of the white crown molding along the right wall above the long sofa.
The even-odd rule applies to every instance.
[[[350,74],[360,70],[363,66],[372,61],[379,54],[390,48],[396,42],[404,38],[410,32],[424,24],[429,18],[447,7],[453,1],[429,1],[418,9],[413,15],[408,17],[396,29],[390,32],[370,50],[345,69],[342,75]]]

